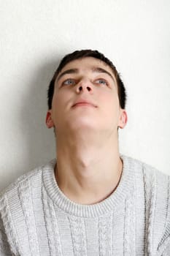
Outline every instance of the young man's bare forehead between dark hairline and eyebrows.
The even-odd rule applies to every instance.
[[[112,75],[115,76],[113,70],[111,67],[109,67],[108,64],[106,64],[104,61],[101,61],[100,59],[96,59],[93,57],[85,57],[82,59],[75,59],[74,61],[70,61],[68,64],[66,64],[63,69],[61,69],[61,72],[67,70],[67,69],[79,69],[79,70],[85,70],[85,71],[91,71],[93,68],[100,67],[108,72],[111,72]],[[59,74],[61,73],[59,72]],[[59,75],[58,74],[58,75]]]

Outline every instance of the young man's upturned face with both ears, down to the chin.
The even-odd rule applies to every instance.
[[[84,103],[75,105],[77,102]],[[55,127],[57,135],[78,130],[117,134],[117,127],[123,128],[126,120],[115,75],[107,64],[85,57],[63,67],[55,80],[47,127]]]

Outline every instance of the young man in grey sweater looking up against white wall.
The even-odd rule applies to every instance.
[[[169,176],[120,155],[125,87],[96,50],[63,58],[46,124],[56,159],[0,197],[0,255],[170,255]]]

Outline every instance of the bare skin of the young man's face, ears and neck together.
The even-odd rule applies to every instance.
[[[69,69],[77,71],[63,74]],[[46,117],[57,138],[55,178],[70,200],[98,203],[116,189],[123,170],[117,127],[125,127],[127,113],[120,108],[115,75],[103,61],[86,57],[66,64],[58,78]],[[96,107],[72,108],[80,99]]]

